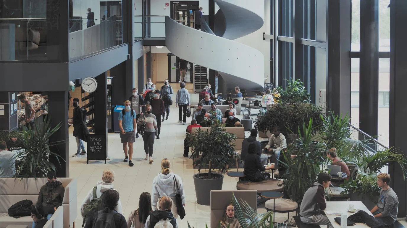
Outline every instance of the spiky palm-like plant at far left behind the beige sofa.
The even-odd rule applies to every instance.
[[[20,170],[16,171],[15,177],[45,177],[50,170],[55,171],[55,164],[50,161],[50,157],[60,164],[60,155],[50,151],[51,148],[57,148],[57,145],[66,143],[66,140],[57,142],[48,142],[52,136],[61,127],[59,123],[56,127],[51,128],[51,121],[45,119],[42,125],[35,122],[35,127],[23,128],[23,131],[16,132],[19,140],[17,141],[22,150],[16,153],[16,160],[20,161]],[[63,159],[62,159],[63,160]]]

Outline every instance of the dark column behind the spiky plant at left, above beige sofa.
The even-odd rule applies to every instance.
[[[49,142],[66,140],[64,144],[50,147],[50,151],[59,154],[62,158],[59,158],[58,161],[56,157],[51,156],[50,162],[55,165],[58,177],[69,177],[68,91],[47,92],[47,95],[51,128],[55,128],[61,123],[61,128],[49,138]],[[75,142],[72,142],[71,145],[76,147]]]

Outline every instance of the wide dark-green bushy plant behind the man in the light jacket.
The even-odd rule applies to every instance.
[[[276,104],[273,108],[267,110],[265,116],[258,116],[254,123],[254,128],[258,131],[272,131],[274,126],[279,126],[281,133],[287,136],[291,131],[296,131],[300,127],[302,132],[302,123],[309,122],[313,118],[313,133],[315,134],[322,127],[321,115],[324,114],[322,107],[312,103],[290,103]]]

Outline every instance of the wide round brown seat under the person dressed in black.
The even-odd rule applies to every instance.
[[[236,184],[236,189],[239,190],[257,190],[258,193],[265,191],[279,191],[281,192],[284,185],[281,187],[277,186],[282,184],[282,181],[277,179],[265,179],[263,181],[253,182],[253,181],[239,181]]]

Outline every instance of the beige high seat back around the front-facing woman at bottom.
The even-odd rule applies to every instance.
[[[257,191],[256,190],[211,190],[210,191],[210,227],[217,228],[219,221],[225,215],[225,209],[230,204],[232,193],[237,200],[247,202],[250,207],[257,211]]]

